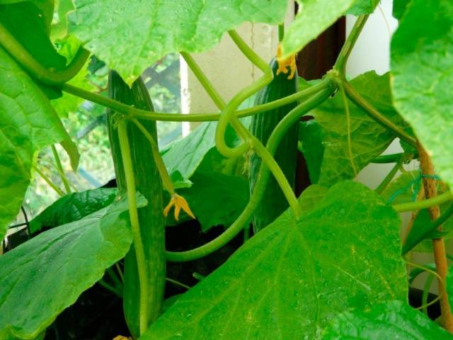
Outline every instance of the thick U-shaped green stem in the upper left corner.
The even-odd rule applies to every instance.
[[[16,38],[0,23],[0,45],[35,79],[48,85],[61,85],[74,78],[88,59],[90,52],[79,47],[66,69],[50,70],[42,67]]]

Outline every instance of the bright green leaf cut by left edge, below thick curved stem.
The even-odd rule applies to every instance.
[[[74,148],[45,95],[0,48],[0,239],[21,208],[33,156],[62,141]]]

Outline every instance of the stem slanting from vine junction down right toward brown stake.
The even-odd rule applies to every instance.
[[[343,86],[346,92],[346,95],[350,98],[350,100],[355,103],[357,106],[365,110],[365,112],[377,123],[382,125],[387,130],[391,130],[397,137],[400,137],[401,140],[404,140],[408,144],[413,147],[417,147],[417,141],[414,137],[409,135],[406,131],[398,127],[398,125],[394,124],[391,120],[386,118],[382,113],[376,110],[370,103],[368,103],[365,98],[360,96],[360,94],[355,91],[355,89],[349,84],[348,81],[345,79],[343,81]]]

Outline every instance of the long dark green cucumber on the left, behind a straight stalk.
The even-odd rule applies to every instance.
[[[133,105],[135,108],[154,111],[149,93],[142,78],[127,86],[120,75],[112,71],[108,77],[108,96],[121,103]],[[108,135],[112,149],[113,163],[117,186],[126,190],[126,180],[122,164],[120,142],[115,127],[115,115],[108,112]],[[157,141],[156,122],[141,121],[142,125]],[[140,232],[144,245],[149,282],[149,323],[153,322],[161,312],[164,298],[166,260],[165,260],[165,220],[163,215],[163,188],[159,171],[152,156],[151,146],[143,133],[133,124],[127,124],[130,142],[132,165],[134,166],[135,186],[139,193],[147,198],[148,205],[138,210]],[[140,285],[137,271],[137,259],[134,246],[125,257],[123,282],[123,310],[127,326],[134,339],[139,337],[139,298]]]

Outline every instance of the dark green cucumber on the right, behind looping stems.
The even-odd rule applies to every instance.
[[[269,103],[270,101],[275,101],[297,92],[297,72],[292,79],[287,79],[288,74],[280,73],[277,76],[276,72],[278,64],[275,59],[270,62],[270,67],[273,69],[274,79],[270,84],[258,92],[255,99],[255,105]],[[277,126],[277,124],[280,123],[280,120],[296,106],[297,103],[294,102],[287,106],[276,108],[271,112],[267,111],[254,115],[251,121],[251,132],[265,145],[275,126]],[[296,177],[298,131],[299,123],[296,123],[289,128],[275,153],[275,160],[280,168],[282,168],[283,173],[293,189]],[[260,157],[253,153],[250,157],[248,178],[251,193],[255,187],[260,164]],[[268,185],[265,188],[263,200],[253,215],[253,231],[259,232],[273,222],[275,218],[287,208],[288,203],[283,195],[282,189],[278,186],[275,178],[271,176]]]

